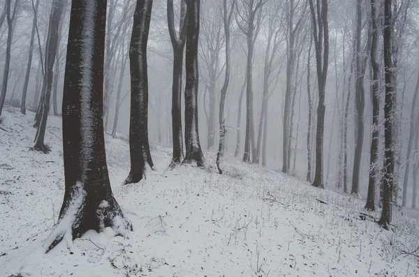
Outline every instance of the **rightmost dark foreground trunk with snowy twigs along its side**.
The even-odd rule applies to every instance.
[[[393,188],[394,188],[394,169],[395,169],[395,150],[393,149],[393,113],[395,109],[395,72],[392,61],[392,0],[384,0],[384,72],[385,72],[385,105],[384,105],[384,140],[385,140],[385,172],[383,177],[383,210],[379,225],[388,228],[391,223]]]

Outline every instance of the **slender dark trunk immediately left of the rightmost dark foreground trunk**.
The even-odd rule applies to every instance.
[[[375,190],[376,190],[376,167],[378,166],[378,142],[379,128],[378,117],[380,114],[380,98],[378,86],[379,66],[376,59],[378,29],[376,24],[376,2],[371,0],[371,21],[372,21],[372,43],[371,43],[371,67],[372,67],[372,140],[369,165],[368,195],[365,209],[375,211]]]

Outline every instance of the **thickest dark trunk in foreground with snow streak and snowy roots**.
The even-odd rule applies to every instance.
[[[112,227],[131,230],[112,195],[103,137],[103,55],[106,0],[72,1],[64,77],[63,150],[66,190],[49,251],[64,237]]]

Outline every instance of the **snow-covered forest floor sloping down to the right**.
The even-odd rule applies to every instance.
[[[234,158],[222,175],[168,170],[171,149],[162,147],[152,147],[156,171],[122,186],[128,144],[108,135],[112,190],[133,232],[89,232],[44,254],[64,195],[61,118],[48,119],[45,155],[29,151],[34,114],[5,109],[0,276],[419,276],[418,256],[404,253],[419,246],[416,211],[397,209],[386,231],[360,218],[364,200]]]

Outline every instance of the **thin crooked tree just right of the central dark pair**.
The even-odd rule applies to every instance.
[[[216,167],[219,170],[219,173],[222,174],[223,171],[220,168],[220,158],[223,156],[224,152],[224,136],[226,135],[226,119],[224,118],[224,106],[226,105],[226,96],[227,96],[227,89],[228,84],[230,83],[230,23],[231,17],[234,12],[236,0],[233,0],[230,6],[230,11],[227,7],[227,0],[223,0],[223,23],[224,23],[224,36],[226,38],[226,77],[224,77],[224,84],[221,88],[221,99],[220,99],[220,110],[219,110],[219,130],[220,130],[220,138],[219,138],[219,151],[216,154]]]

